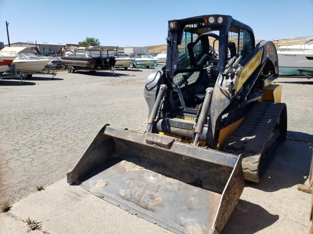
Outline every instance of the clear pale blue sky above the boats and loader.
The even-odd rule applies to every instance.
[[[313,0],[0,0],[0,41],[102,45],[164,44],[167,20],[223,14],[248,24],[256,39],[313,35]]]

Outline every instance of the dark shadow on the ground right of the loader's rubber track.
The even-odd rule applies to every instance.
[[[294,135],[297,136],[297,133]],[[298,136],[302,135],[299,133]],[[280,153],[273,158],[262,181],[259,184],[246,181],[246,186],[265,192],[275,192],[304,184],[310,174],[312,147],[312,141],[286,140]]]

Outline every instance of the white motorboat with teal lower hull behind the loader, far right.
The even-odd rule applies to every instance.
[[[313,72],[313,39],[304,44],[280,46],[277,49],[279,73],[300,75]]]

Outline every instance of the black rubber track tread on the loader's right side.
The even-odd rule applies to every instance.
[[[262,165],[269,160],[264,156],[267,150],[265,147],[284,107],[284,103],[255,102],[243,122],[224,145],[224,152],[244,154],[242,166],[246,180],[260,182],[261,160]]]

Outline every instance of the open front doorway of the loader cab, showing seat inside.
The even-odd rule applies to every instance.
[[[173,77],[173,108],[192,113],[203,102],[206,88],[214,87],[218,76],[218,48],[219,31],[185,28]],[[209,75],[204,67],[210,69]]]

